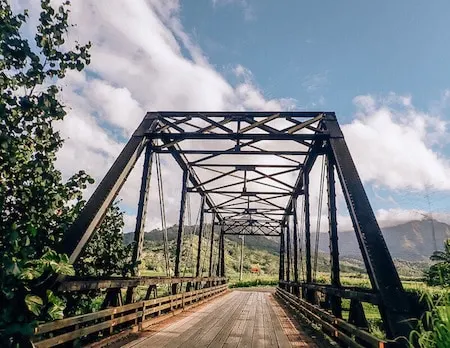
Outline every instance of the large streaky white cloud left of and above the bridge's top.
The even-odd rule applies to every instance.
[[[35,8],[26,2],[24,7]],[[292,107],[290,99],[266,99],[251,78],[241,76],[233,86],[213,66],[183,29],[178,1],[83,1],[71,8],[67,42],[92,41],[92,63],[82,73],[62,81],[63,101],[69,106],[57,125],[66,138],[58,154],[65,177],[85,169],[98,183],[147,111],[154,110],[279,110]],[[251,72],[244,67],[237,68]],[[161,157],[165,178],[167,223],[178,219],[181,170]],[[155,169],[154,169],[155,170]],[[137,206],[142,159],[119,198],[127,211]],[[156,176],[151,197],[157,199]],[[89,190],[89,194],[92,192]],[[194,195],[193,195],[194,196]],[[192,198],[193,215],[198,210]],[[149,204],[148,228],[159,227],[159,204]],[[134,229],[126,216],[126,229]]]

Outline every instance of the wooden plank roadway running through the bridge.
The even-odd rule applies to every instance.
[[[257,291],[231,291],[143,336],[125,347],[316,347],[272,293]]]

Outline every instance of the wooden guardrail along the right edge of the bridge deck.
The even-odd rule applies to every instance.
[[[283,290],[279,287],[276,289],[276,295],[285,303],[298,310],[312,322],[320,325],[322,329],[331,337],[336,338],[349,347],[363,348],[389,347],[393,342],[379,339],[367,331],[346,322],[343,319],[336,318],[332,314],[312,305],[311,303]]]

